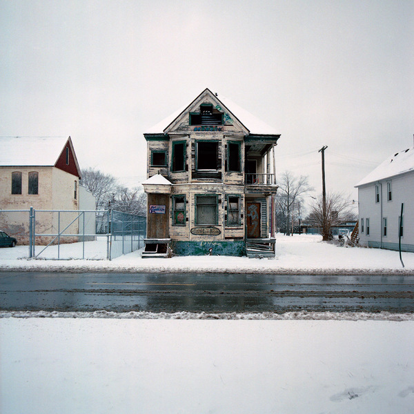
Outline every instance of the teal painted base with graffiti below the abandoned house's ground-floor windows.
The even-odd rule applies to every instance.
[[[246,246],[244,240],[217,240],[217,242],[172,242],[172,254],[175,256],[206,256],[213,248],[212,255],[244,256]]]

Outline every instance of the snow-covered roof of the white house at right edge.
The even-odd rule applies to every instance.
[[[414,171],[414,148],[396,152],[359,181],[355,187],[394,177],[408,171]]]

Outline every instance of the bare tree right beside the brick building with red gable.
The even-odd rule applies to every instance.
[[[81,184],[96,197],[97,210],[108,208],[108,201],[115,197],[119,189],[117,179],[95,168],[81,170],[81,177]]]

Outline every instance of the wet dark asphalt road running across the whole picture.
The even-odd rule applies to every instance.
[[[414,312],[414,275],[0,272],[1,311]]]

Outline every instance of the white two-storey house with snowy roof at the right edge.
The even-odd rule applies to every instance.
[[[357,186],[359,244],[414,252],[414,148],[396,152]],[[403,213],[402,213],[403,211]]]

